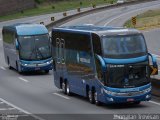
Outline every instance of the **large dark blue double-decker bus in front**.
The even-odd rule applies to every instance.
[[[138,30],[53,28],[52,47],[54,82],[65,94],[85,96],[97,105],[151,99],[150,75],[158,74],[157,63]]]

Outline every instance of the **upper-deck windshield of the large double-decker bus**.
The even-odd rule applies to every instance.
[[[116,35],[102,37],[104,56],[109,58],[136,57],[146,54],[143,35]]]

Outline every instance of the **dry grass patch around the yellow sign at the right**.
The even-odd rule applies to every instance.
[[[135,28],[139,30],[148,30],[160,28],[160,9],[148,10],[145,13],[139,14],[136,16],[137,24]],[[128,28],[133,28],[131,19],[128,20],[124,26]]]

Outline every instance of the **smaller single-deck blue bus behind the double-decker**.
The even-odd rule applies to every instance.
[[[19,23],[4,26],[3,47],[9,68],[18,72],[52,70],[51,45],[44,25]]]

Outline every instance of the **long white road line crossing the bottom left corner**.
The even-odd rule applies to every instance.
[[[38,117],[38,116],[36,116],[36,115],[32,115],[32,114],[31,114],[31,113],[29,113],[28,111],[23,110],[22,108],[19,108],[19,107],[17,107],[17,106],[15,106],[15,105],[13,105],[12,103],[10,103],[10,102],[8,102],[8,101],[6,101],[6,100],[2,99],[2,98],[0,98],[0,101],[2,101],[2,102],[4,102],[4,103],[6,103],[6,104],[8,104],[8,105],[10,105],[11,107],[13,107],[13,108],[15,108],[15,109],[17,109],[17,110],[19,110],[19,111],[21,111],[21,112],[25,113],[25,114],[29,114],[30,116],[32,116],[32,117],[34,117],[34,118],[36,118],[36,119],[38,119],[38,120],[45,120],[45,119],[40,118],[40,117]]]

